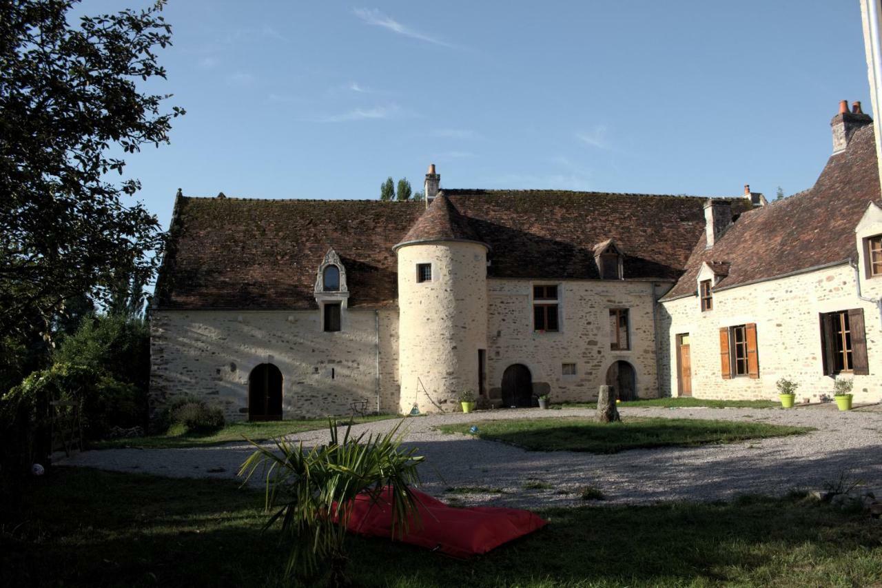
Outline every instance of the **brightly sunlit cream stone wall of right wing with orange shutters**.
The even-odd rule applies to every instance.
[[[863,272],[862,272],[863,274]],[[869,283],[868,283],[869,282]],[[863,294],[878,297],[882,281],[865,281]],[[714,292],[714,309],[701,313],[699,298],[663,302],[660,308],[662,395],[677,395],[676,335],[690,335],[692,396],[777,400],[775,382],[799,384],[796,400],[817,402],[833,394],[822,367],[819,313],[863,308],[870,375],[854,376],[855,402],[882,400],[882,328],[878,307],[856,296],[848,265]],[[757,325],[759,379],[721,377],[720,328]]]

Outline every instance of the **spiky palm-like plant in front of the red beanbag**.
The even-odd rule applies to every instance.
[[[403,421],[402,421],[403,422]],[[342,439],[329,419],[331,442],[303,449],[303,442],[284,438],[275,447],[261,447],[245,460],[239,475],[247,482],[258,470],[265,476],[265,508],[273,512],[268,529],[281,521],[283,540],[291,544],[286,577],[317,577],[326,572],[330,584],[346,584],[346,530],[355,497],[368,494],[377,501],[385,486],[392,490],[392,533],[407,531],[417,516],[417,499],[410,486],[419,484],[416,449],[402,449],[401,422],[383,435],[353,437],[352,422]]]

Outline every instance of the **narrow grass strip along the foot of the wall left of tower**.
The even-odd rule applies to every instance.
[[[370,417],[355,418],[355,423],[366,423],[372,420],[385,420],[386,418],[401,418],[395,414],[371,415]],[[337,417],[340,422],[347,423],[348,417]],[[113,439],[98,441],[91,444],[92,449],[113,449],[121,447],[136,447],[142,449],[173,449],[185,447],[199,447],[203,445],[217,445],[231,441],[243,441],[247,437],[251,441],[266,441],[274,437],[281,437],[291,433],[301,433],[314,429],[324,429],[328,425],[327,418],[305,418],[303,420],[271,420],[264,422],[240,422],[230,423],[220,431],[204,435],[188,434],[183,428],[172,427],[167,433],[135,437],[131,439]]]

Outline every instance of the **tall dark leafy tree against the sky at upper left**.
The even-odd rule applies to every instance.
[[[138,84],[165,78],[164,0],[143,11],[83,17],[78,0],[0,0],[0,337],[48,337],[64,300],[107,301],[116,276],[153,275],[156,217],[131,200],[123,175],[142,146],[168,143],[170,94]],[[35,320],[36,319],[36,320]],[[34,322],[41,324],[35,325]]]

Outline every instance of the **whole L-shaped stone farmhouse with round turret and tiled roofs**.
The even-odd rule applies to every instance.
[[[841,103],[811,189],[766,202],[441,189],[424,202],[178,192],[151,322],[153,410],[231,419],[528,406],[535,396],[882,400],[871,117]]]

